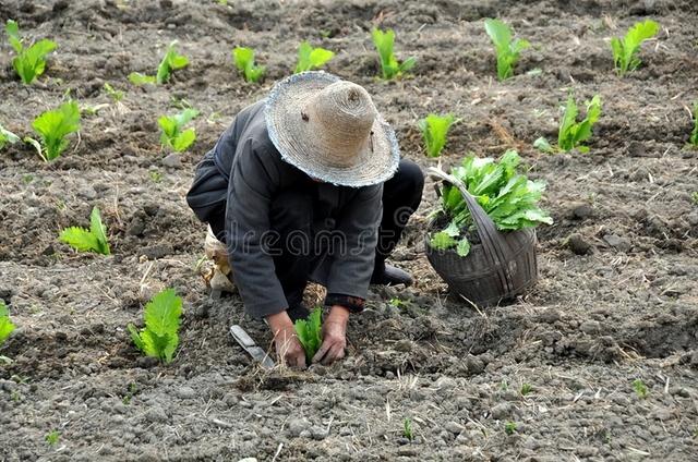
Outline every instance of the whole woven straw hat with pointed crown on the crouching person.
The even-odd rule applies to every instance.
[[[395,132],[362,86],[324,72],[291,75],[272,89],[265,117],[284,160],[314,179],[359,187],[397,170]]]

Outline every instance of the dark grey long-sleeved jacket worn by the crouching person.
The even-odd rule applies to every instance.
[[[245,309],[255,317],[288,307],[263,235],[272,228],[269,212],[275,199],[291,191],[317,198],[314,232],[339,231],[346,240],[348,252],[317,258],[311,279],[327,288],[330,300],[337,295],[366,296],[383,212],[383,184],[354,189],[318,183],[284,161],[269,141],[264,101],[260,101],[243,109],[206,154],[186,196],[204,222],[226,203],[233,279]]]

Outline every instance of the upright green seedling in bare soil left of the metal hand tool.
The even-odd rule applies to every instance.
[[[145,328],[139,332],[133,324],[129,324],[133,343],[146,356],[170,363],[179,345],[181,315],[182,299],[177,296],[174,289],[161,291],[145,305]]]

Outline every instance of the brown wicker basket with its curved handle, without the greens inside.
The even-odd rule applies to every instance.
[[[426,257],[449,289],[477,306],[491,306],[515,299],[533,285],[538,279],[535,230],[500,232],[460,180],[435,168],[429,172],[458,187],[481,242],[461,257],[454,250],[432,248],[426,235]]]

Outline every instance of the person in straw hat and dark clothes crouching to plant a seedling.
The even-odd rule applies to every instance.
[[[266,319],[279,360],[305,367],[293,321],[309,315],[306,283],[327,289],[313,362],[329,364],[344,357],[349,314],[363,309],[370,283],[411,283],[385,258],[423,186],[363,87],[306,72],[238,113],[186,200],[226,243],[245,311]]]

